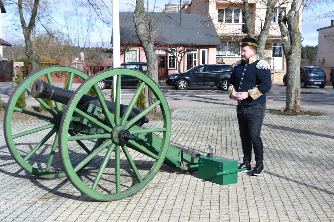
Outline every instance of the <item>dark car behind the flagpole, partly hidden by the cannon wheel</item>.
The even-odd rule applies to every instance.
[[[139,72],[146,74],[147,72],[147,63],[122,63],[121,68],[133,69]],[[111,67],[110,69],[113,69]],[[114,77],[109,77],[98,82],[98,86],[101,90],[105,88],[111,88],[111,84],[114,80]],[[121,86],[137,86],[138,80],[132,76],[122,75]]]

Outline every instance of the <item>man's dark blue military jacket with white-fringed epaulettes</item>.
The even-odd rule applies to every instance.
[[[248,92],[249,97],[238,101],[238,105],[248,106],[266,102],[266,93],[271,89],[270,66],[258,55],[249,58],[248,63],[241,60],[236,62],[233,72],[227,81],[228,91],[231,93]]]

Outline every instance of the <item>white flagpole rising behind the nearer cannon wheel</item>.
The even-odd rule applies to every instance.
[[[118,0],[113,0],[113,66],[114,68],[121,67],[120,14]],[[114,76],[114,101],[116,101],[116,82],[116,76]],[[122,101],[122,97],[120,97],[120,99]]]

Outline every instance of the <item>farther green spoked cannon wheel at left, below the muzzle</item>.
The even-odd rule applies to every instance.
[[[60,71],[63,74],[68,74],[67,89],[69,90],[72,88],[73,80],[74,82],[77,80],[82,82],[82,79],[85,80],[89,77],[78,69],[66,66],[51,66],[40,69],[25,78],[15,88],[9,98],[4,117],[5,139],[14,160],[29,173],[48,179],[66,176],[61,170],[59,159],[54,159],[58,144],[58,127],[63,113],[61,105],[54,102],[56,110],[54,111],[53,106],[49,107],[42,99],[30,101],[38,105],[41,104],[48,111],[45,113],[19,109],[15,105],[22,93],[25,91],[31,92],[29,87],[31,83],[45,75],[44,80],[53,85],[51,77]],[[21,112],[22,115],[29,118],[38,117],[40,120],[37,120],[36,125],[31,125],[29,120],[12,121],[14,112]],[[68,133],[75,135],[71,131]],[[79,145],[85,146],[84,144]]]

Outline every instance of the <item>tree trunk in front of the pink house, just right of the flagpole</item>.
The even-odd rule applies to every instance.
[[[136,0],[136,10],[134,12],[134,23],[136,27],[136,34],[137,37],[140,41],[140,43],[143,46],[143,50],[146,55],[146,60],[147,60],[147,74],[148,76],[158,84],[158,56],[155,53],[155,48],[154,48],[154,36],[153,30],[148,30],[153,29],[153,26],[150,24],[146,24],[146,22],[152,22],[152,21],[147,21],[150,20],[151,18],[149,16],[145,16],[145,8],[144,8],[144,0]],[[152,17],[153,18],[153,17]],[[152,22],[153,23],[153,22]],[[154,103],[156,100],[153,92],[149,89],[148,92],[148,103],[149,106]],[[158,111],[160,107],[158,106]]]

